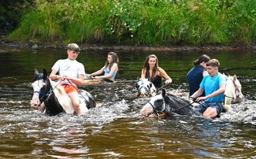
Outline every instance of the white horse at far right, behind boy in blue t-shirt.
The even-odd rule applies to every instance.
[[[224,74],[223,74],[224,75]],[[242,86],[236,75],[226,76],[226,89],[224,92],[224,108],[231,109],[231,104],[243,101]]]

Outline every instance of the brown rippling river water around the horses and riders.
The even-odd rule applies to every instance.
[[[255,158],[256,52],[206,52],[221,62],[220,72],[238,76],[244,101],[221,118],[173,115],[148,119],[139,110],[149,98],[136,98],[134,83],[148,54],[173,79],[167,91],[187,94],[186,74],[203,52],[146,53],[117,51],[117,83],[82,86],[98,107],[85,115],[44,116],[30,108],[33,69],[41,72],[65,50],[0,53],[0,158]],[[107,51],[82,51],[87,73],[102,68]]]

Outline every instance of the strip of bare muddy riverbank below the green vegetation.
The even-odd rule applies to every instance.
[[[42,43],[35,41],[10,41],[2,34],[0,38],[0,53],[6,51],[21,50],[65,50],[66,44],[62,42]],[[176,51],[212,51],[212,50],[256,50],[256,45],[228,46],[224,44],[195,46],[195,45],[173,45],[173,46],[102,46],[97,44],[78,43],[80,49],[90,51],[114,50],[114,51],[147,51],[147,52],[176,52]]]

